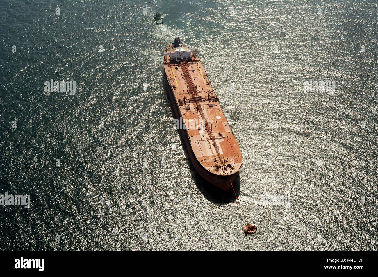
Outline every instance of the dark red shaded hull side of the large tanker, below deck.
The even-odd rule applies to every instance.
[[[169,86],[166,78],[167,78],[167,76],[164,73],[164,79],[165,79],[166,87],[167,87],[167,90],[168,90],[169,99],[170,99],[170,102],[172,103],[172,106],[173,106],[173,109],[174,109],[174,115],[178,119],[178,118],[180,118],[179,107],[177,106],[176,101],[174,101],[175,98],[174,98],[172,88]],[[234,183],[237,176],[239,176],[239,171],[232,174],[232,175],[226,175],[226,176],[215,175],[215,174],[209,172],[198,162],[198,159],[195,156],[195,154],[192,150],[192,146],[191,146],[191,144],[190,144],[190,142],[187,138],[186,130],[181,128],[181,133],[183,135],[184,143],[185,143],[186,149],[188,150],[189,157],[191,159],[192,165],[194,166],[194,169],[198,172],[198,174],[200,174],[200,176],[202,178],[204,178],[206,181],[208,181],[209,183],[219,187],[220,189],[228,191],[231,187],[231,184]]]

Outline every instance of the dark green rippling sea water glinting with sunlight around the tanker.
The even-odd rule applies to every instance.
[[[376,249],[377,11],[376,1],[2,0],[0,194],[30,194],[31,207],[0,206],[1,248]],[[177,36],[201,51],[220,103],[242,111],[240,199],[290,196],[266,204],[267,226],[265,210],[244,208],[254,235],[173,129],[160,53]],[[50,79],[75,81],[76,93],[46,92]],[[335,94],[304,91],[310,79],[335,82]]]

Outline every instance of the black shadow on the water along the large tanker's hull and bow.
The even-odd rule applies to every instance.
[[[167,87],[167,84],[165,82],[165,74],[164,73],[163,73],[162,82],[163,82],[164,92],[165,92],[166,97],[167,97],[167,103],[170,106],[170,110],[171,110],[173,118],[176,119],[174,108],[173,108],[172,102],[170,101],[169,87]],[[228,191],[225,191],[225,190],[220,189],[217,186],[209,183],[204,178],[202,178],[202,176],[197,172],[197,170],[195,170],[195,168],[192,164],[192,161],[190,159],[190,156],[189,156],[189,152],[188,152],[189,150],[186,148],[185,141],[184,141],[184,138],[183,138],[183,134],[181,133],[181,130],[177,130],[177,134],[180,137],[180,141],[181,141],[181,145],[183,146],[183,149],[184,149],[185,157],[186,157],[187,161],[189,162],[192,179],[193,179],[195,185],[197,186],[197,188],[203,194],[203,196],[207,200],[209,200],[210,202],[212,202],[214,204],[228,204],[228,203],[234,202],[236,200],[235,193],[236,193],[237,197],[239,197],[239,195],[240,195],[240,176],[237,176],[235,182],[232,184],[234,186],[235,193],[234,193],[234,190],[232,190],[232,187]]]

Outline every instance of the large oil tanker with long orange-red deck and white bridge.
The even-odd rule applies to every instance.
[[[169,96],[177,120],[184,123],[180,129],[195,170],[229,190],[239,175],[242,153],[198,52],[175,38],[162,53]]]

